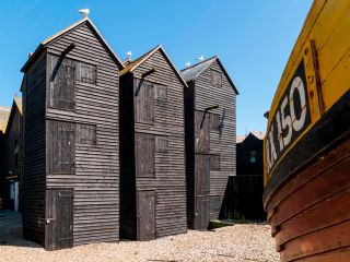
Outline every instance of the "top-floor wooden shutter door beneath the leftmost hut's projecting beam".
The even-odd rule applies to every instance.
[[[49,105],[59,109],[74,109],[74,63],[51,57]]]

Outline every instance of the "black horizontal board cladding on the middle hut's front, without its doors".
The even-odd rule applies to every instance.
[[[153,68],[155,71],[144,78],[144,86],[147,86],[148,83],[151,83],[154,88],[154,119],[148,119],[153,121],[153,123],[147,123],[143,117],[141,118],[142,121],[144,120],[143,122],[138,121],[140,118],[137,115],[131,115],[132,109],[129,110],[129,118],[135,119],[135,140],[140,138],[139,133],[153,134],[155,176],[136,177],[135,187],[139,192],[142,190],[154,191],[155,237],[164,237],[186,231],[184,84],[166,61],[162,50],[159,49],[132,71],[135,86],[129,82],[128,88],[136,90],[139,80],[142,79],[142,74],[149,72]],[[124,82],[124,79],[128,78],[128,74],[122,75],[121,78],[121,81]],[[163,96],[164,90],[159,90],[164,86],[167,88],[167,99],[165,100]],[[121,88],[125,87],[126,86],[122,86]],[[135,98],[135,100],[137,98]],[[152,138],[149,136],[149,139]],[[165,148],[166,139],[167,150]],[[137,143],[137,141],[135,141],[135,143]],[[148,144],[153,146],[153,142],[149,142]],[[136,162],[135,165],[138,165],[138,162]],[[138,170],[138,168],[135,169]],[[149,169],[151,170],[151,168]],[[121,174],[121,176],[124,175]],[[136,175],[133,174],[133,176]]]

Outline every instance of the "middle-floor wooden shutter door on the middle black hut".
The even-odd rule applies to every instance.
[[[135,134],[137,177],[155,177],[155,146],[154,135],[145,133]]]

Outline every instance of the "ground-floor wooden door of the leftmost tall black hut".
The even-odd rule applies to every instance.
[[[73,247],[73,190],[46,191],[45,249]]]

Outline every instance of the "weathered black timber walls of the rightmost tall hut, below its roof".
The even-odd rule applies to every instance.
[[[194,223],[196,213],[201,212],[192,194],[197,192],[195,177],[200,174],[196,170],[201,167],[192,154],[210,156],[210,219],[218,219],[228,178],[236,172],[236,93],[217,58],[188,84],[194,91],[185,93],[187,219],[189,227],[206,229],[207,226],[197,227]],[[211,109],[206,111],[208,108]]]

